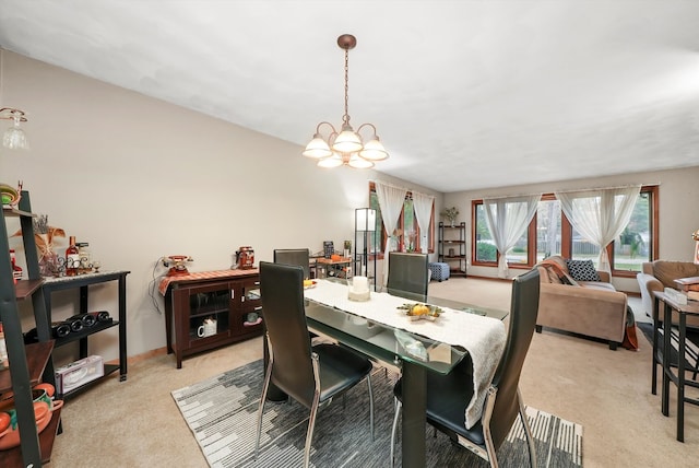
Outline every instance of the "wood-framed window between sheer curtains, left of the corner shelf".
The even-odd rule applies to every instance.
[[[369,207],[376,210],[377,232],[381,233],[381,235],[376,236],[371,251],[382,253],[387,242],[393,242],[396,250],[401,246],[404,246],[406,251],[420,251],[422,245],[427,242],[427,251],[433,253],[435,250],[435,203],[433,203],[426,238],[423,236],[419,225],[417,224],[417,218],[415,218],[415,211],[413,210],[413,194],[410,190],[405,195],[403,212],[398,222],[400,231],[396,235],[387,233],[383,227],[383,218],[374,183],[369,184]]]

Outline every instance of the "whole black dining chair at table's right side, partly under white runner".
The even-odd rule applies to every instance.
[[[534,438],[526,420],[524,402],[519,390],[524,358],[532,341],[538,313],[538,271],[530,270],[512,282],[509,330],[502,358],[487,390],[481,420],[471,429],[465,425],[465,410],[473,396],[471,360],[465,359],[447,375],[427,373],[427,422],[447,434],[455,444],[498,466],[497,449],[519,416],[532,467],[536,467]],[[402,408],[402,379],[394,388],[395,417],[391,433],[391,466],[394,461],[395,432]]]

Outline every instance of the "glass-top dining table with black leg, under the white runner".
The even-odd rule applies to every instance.
[[[334,283],[332,294],[343,294],[343,291],[346,294],[346,286],[339,289],[336,285],[337,283],[344,285],[342,280],[318,281],[318,286],[322,288],[328,288],[320,284],[322,281]],[[400,311],[386,311],[389,308],[386,304],[429,304],[448,311],[448,314],[454,314],[451,315],[452,319],[459,314],[465,314],[472,316],[463,318],[473,319],[474,316],[479,316],[501,321],[509,313],[476,304],[402,291],[392,291],[391,294],[371,292],[371,300],[363,305],[353,304],[344,299],[339,297],[333,301],[328,295],[318,294],[312,290],[306,291],[308,328],[378,361],[401,368],[404,388],[410,388],[410,391],[404,391],[403,395],[402,463],[404,467],[408,468],[423,467],[425,466],[426,373],[448,374],[464,358],[469,356],[469,351],[462,346],[430,338],[429,334],[419,331],[419,326],[395,326],[396,319],[399,319],[398,324],[410,325],[410,317],[407,315],[401,316]],[[381,309],[380,313],[389,319],[378,321],[367,318],[366,315],[358,315],[357,307],[360,311],[374,309],[372,312],[376,312],[376,309]]]

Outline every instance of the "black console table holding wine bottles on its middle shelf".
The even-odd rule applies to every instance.
[[[118,281],[118,307],[119,319],[106,325],[95,325],[85,328],[74,335],[66,338],[56,339],[56,347],[69,341],[80,341],[80,359],[87,358],[87,337],[95,332],[119,327],[119,365],[105,364],[105,377],[112,372],[119,371],[119,381],[127,379],[127,274],[130,271],[105,271],[97,273],[79,274],[76,277],[46,278],[44,282],[44,301],[46,302],[46,314],[48,321],[51,323],[51,293],[55,291],[79,289],[80,290],[80,314],[86,314],[88,311],[88,291],[90,285],[105,283],[108,281]],[[54,382],[54,376],[51,382]],[[103,377],[104,378],[104,377]],[[95,381],[98,382],[98,381]],[[78,391],[74,390],[74,391]]]

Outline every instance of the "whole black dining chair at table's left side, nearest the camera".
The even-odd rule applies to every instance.
[[[306,325],[303,281],[301,267],[260,261],[260,295],[270,358],[258,411],[254,454],[257,458],[264,402],[268,388],[273,384],[310,409],[304,452],[304,467],[308,467],[318,407],[366,378],[374,437],[374,395],[372,366],[368,359],[337,344],[321,343],[311,347]]]

